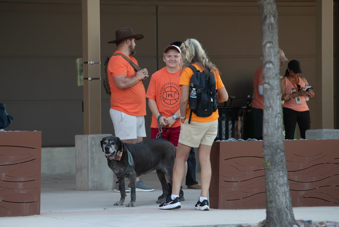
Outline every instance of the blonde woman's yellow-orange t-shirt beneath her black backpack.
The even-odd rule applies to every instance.
[[[197,64],[197,63],[193,63],[192,64],[194,67],[196,67],[197,70],[202,71],[203,69]],[[217,90],[224,87],[224,84],[221,81],[220,75],[219,75],[219,71],[216,70],[215,71],[215,81],[216,81],[216,88]],[[193,71],[191,68],[186,67],[182,73],[181,73],[181,79],[180,79],[180,85],[187,85],[190,86],[190,81],[191,81],[191,77],[193,75]],[[190,118],[190,104],[188,103],[187,105],[187,111],[186,111],[186,118]],[[192,112],[192,117],[191,120],[195,121],[195,122],[200,122],[200,123],[205,123],[205,122],[212,122],[215,121],[219,118],[219,113],[218,110],[213,112],[213,114],[210,117],[198,117],[195,113]]]

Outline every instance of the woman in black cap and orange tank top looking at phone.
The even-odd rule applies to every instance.
[[[310,110],[305,97],[313,98],[314,92],[312,88],[306,90],[308,82],[304,77],[300,77],[299,73],[302,73],[300,62],[292,60],[288,62],[285,76],[280,80],[281,100],[285,101],[282,109],[287,140],[294,139],[297,122],[302,139],[305,139],[305,132],[311,127]]]

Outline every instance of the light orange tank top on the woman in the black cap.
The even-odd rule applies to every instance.
[[[294,93],[296,93],[296,88],[297,88],[297,85],[294,84],[288,79],[288,77],[284,77],[285,79],[285,94],[289,94],[289,95],[292,95]],[[299,80],[299,85],[301,87],[302,90],[306,90],[305,88],[305,82],[298,76],[298,80]],[[308,106],[306,104],[306,100],[305,100],[305,96],[300,96],[300,100],[301,102],[300,103],[297,103],[297,100],[296,98],[293,98],[292,100],[287,100],[285,101],[283,107],[286,107],[286,108],[290,108],[290,109],[293,109],[295,111],[307,111],[307,110],[310,110],[308,109]]]

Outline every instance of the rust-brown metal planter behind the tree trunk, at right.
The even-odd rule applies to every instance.
[[[293,207],[339,206],[339,140],[284,141]],[[266,207],[262,141],[214,142],[210,207]]]

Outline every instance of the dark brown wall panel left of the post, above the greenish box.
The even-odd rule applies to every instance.
[[[81,56],[79,13],[1,12],[2,56]]]

